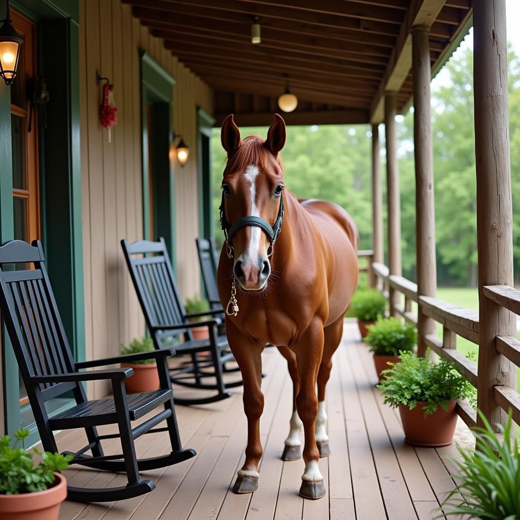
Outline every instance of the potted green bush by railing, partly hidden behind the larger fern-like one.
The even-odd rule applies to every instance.
[[[381,316],[367,328],[365,342],[370,345],[375,370],[381,381],[384,379],[382,372],[388,368],[388,363],[398,363],[400,352],[411,352],[417,342],[417,331],[410,323]]]

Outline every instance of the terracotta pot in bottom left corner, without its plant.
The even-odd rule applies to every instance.
[[[56,484],[44,491],[0,495],[2,520],[58,520],[60,505],[67,498],[67,480],[55,473]]]

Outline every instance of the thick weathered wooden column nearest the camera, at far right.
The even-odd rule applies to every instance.
[[[516,367],[496,349],[497,336],[516,336],[514,315],[493,303],[483,285],[513,286],[505,0],[474,0],[475,156],[478,245],[478,401],[490,423],[505,421],[493,386],[516,388]],[[477,418],[482,425],[482,421]]]

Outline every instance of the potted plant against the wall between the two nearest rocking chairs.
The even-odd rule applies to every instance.
[[[121,344],[119,352],[125,354],[138,354],[153,350],[151,337],[142,337],[140,340],[134,338],[128,346]],[[134,369],[134,374],[125,379],[126,391],[128,393],[152,392],[159,389],[159,373],[154,358],[133,361],[132,363],[121,363],[123,368]]]

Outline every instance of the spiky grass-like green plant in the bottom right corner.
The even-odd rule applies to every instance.
[[[457,447],[461,459],[453,459],[457,487],[442,504],[444,515],[483,520],[520,519],[520,451],[511,411],[505,427],[497,424],[500,437],[478,410],[483,428],[472,428],[475,450]]]

